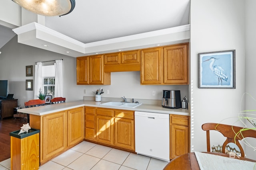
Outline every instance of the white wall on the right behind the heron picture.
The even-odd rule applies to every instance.
[[[240,111],[240,99],[245,91],[244,1],[191,0],[190,12],[191,151],[206,151],[202,124],[218,123],[237,116]],[[232,49],[236,50],[236,89],[199,89],[198,53]],[[232,124],[234,119],[222,123]],[[222,144],[216,136],[211,141],[211,146]]]

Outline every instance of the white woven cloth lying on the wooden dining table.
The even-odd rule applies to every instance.
[[[256,170],[256,162],[195,152],[200,170]]]

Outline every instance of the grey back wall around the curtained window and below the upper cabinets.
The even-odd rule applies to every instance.
[[[8,80],[9,92],[24,107],[24,102],[33,99],[34,91],[25,90],[26,66],[38,61],[63,59],[64,96],[66,101],[83,100],[83,96],[94,96],[92,91],[103,88],[102,97],[161,100],[162,90],[181,90],[181,97],[188,96],[188,85],[151,86],[140,85],[140,72],[112,72],[111,85],[76,85],[76,58],[38,49],[17,42],[17,36],[0,49],[0,80]],[[106,90],[110,94],[106,94]],[[86,94],[84,94],[86,90]],[[156,96],[152,96],[152,91]],[[39,92],[38,92],[39,93]],[[136,101],[136,100],[135,100]]]

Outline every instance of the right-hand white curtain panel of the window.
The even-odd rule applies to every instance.
[[[56,60],[55,66],[55,92],[54,97],[63,97],[62,60]]]

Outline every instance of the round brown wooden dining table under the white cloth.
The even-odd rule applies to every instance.
[[[218,156],[224,156],[224,157],[230,157],[229,154],[224,153],[216,153],[216,152],[204,152],[208,154],[215,154]],[[244,158],[244,157],[236,157],[236,159],[239,160],[247,160],[250,162],[256,162],[256,160]],[[200,170],[198,162],[196,160],[196,155],[194,152],[183,154],[181,156],[178,156],[177,158],[174,158],[170,163],[168,163],[164,170]]]

